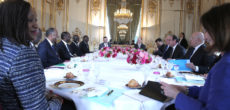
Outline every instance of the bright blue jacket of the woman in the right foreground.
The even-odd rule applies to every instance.
[[[190,87],[188,95],[179,93],[175,100],[177,110],[230,110],[230,52],[208,73],[202,87]]]

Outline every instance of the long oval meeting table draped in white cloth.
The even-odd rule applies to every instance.
[[[78,110],[160,110],[164,103],[140,95],[140,89],[131,89],[125,85],[131,79],[135,79],[142,84],[146,75],[144,72],[149,73],[147,80],[178,84],[175,79],[168,79],[161,75],[153,74],[154,71],[162,73],[165,70],[139,69],[135,65],[128,64],[124,56],[109,60],[97,58],[93,61],[81,62],[82,60],[82,58],[75,58],[75,60],[71,60],[71,63],[64,63],[65,65],[74,64],[74,69],[66,69],[56,65],[44,70],[47,89],[62,97],[73,100]],[[83,71],[87,69],[90,71]],[[98,69],[100,72],[98,78],[94,75],[95,69]],[[64,76],[69,71],[77,76],[74,80],[82,81],[85,84],[78,88],[69,89],[54,87],[55,82],[66,80]],[[179,85],[184,84],[180,83]],[[107,91],[97,97],[80,96],[74,92],[89,87],[107,88]],[[113,92],[108,96],[108,92],[111,90]]]

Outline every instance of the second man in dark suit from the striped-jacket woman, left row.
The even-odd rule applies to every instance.
[[[62,40],[57,44],[57,50],[61,60],[64,62],[66,60],[70,60],[70,58],[73,57],[73,54],[70,51],[70,46],[68,44],[70,43],[71,39],[69,32],[62,32],[61,39]]]

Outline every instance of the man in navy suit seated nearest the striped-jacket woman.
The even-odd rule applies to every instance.
[[[55,28],[46,31],[46,38],[38,45],[38,55],[41,58],[43,67],[49,67],[61,63],[61,59],[56,50],[56,39],[58,32]]]

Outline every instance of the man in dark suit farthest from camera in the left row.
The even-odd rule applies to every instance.
[[[89,42],[89,37],[85,35],[83,37],[83,41],[80,43],[80,50],[83,56],[87,53],[90,53],[88,42]]]

